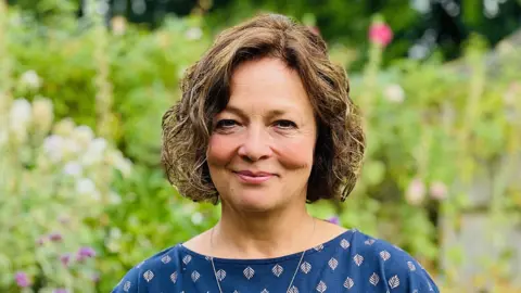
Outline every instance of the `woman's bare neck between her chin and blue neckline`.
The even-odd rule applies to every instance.
[[[223,204],[212,245],[214,255],[225,258],[272,258],[308,249],[314,230],[305,203],[269,213],[244,213]]]

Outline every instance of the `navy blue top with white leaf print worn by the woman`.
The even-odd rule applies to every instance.
[[[302,253],[268,259],[225,259],[182,244],[130,269],[113,293],[287,292]],[[429,273],[403,250],[356,229],[307,250],[288,292],[440,292]]]

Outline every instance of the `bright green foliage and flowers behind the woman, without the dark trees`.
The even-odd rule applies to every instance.
[[[158,164],[162,115],[213,39],[203,20],[170,18],[152,33],[123,20],[110,31],[86,20],[42,26],[5,10],[0,21],[1,292],[109,292],[134,265],[215,222],[218,207],[177,194]],[[350,73],[368,137],[359,183],[344,204],[309,208],[457,283],[439,263],[447,254],[440,220],[458,225],[481,166],[496,166],[505,182],[512,166],[497,162],[519,155],[521,54],[501,47],[491,75],[475,37],[458,65],[433,58],[383,69],[389,33],[376,21],[369,62]],[[347,54],[331,44],[346,67]],[[500,187],[491,213],[519,220],[520,188]]]

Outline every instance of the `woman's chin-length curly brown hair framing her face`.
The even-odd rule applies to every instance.
[[[318,137],[307,202],[344,201],[355,187],[365,152],[347,76],[331,63],[320,36],[279,14],[262,14],[224,30],[187,69],[180,101],[163,116],[161,160],[168,180],[195,202],[217,202],[206,164],[212,119],[228,103],[233,69],[262,58],[280,59],[296,71],[314,107]]]

